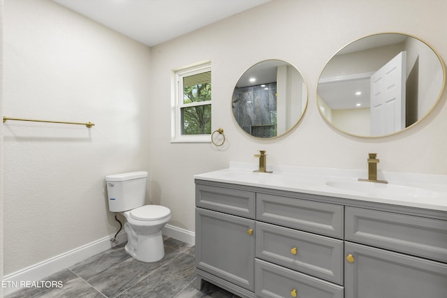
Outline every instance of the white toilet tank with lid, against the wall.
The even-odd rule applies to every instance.
[[[122,212],[145,204],[147,172],[127,172],[105,176],[109,210]]]

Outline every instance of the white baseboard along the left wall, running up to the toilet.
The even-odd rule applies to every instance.
[[[92,255],[107,251],[109,248],[116,246],[117,244],[110,241],[114,235],[103,237],[96,241],[90,242],[78,248],[75,248],[61,255],[57,255],[53,258],[39,262],[36,265],[21,269],[3,276],[3,284],[6,287],[3,288],[3,295],[20,289],[20,283],[27,281],[41,281],[43,278],[50,276],[62,269],[71,267],[82,260],[85,260]],[[120,232],[117,234],[118,244],[127,241],[126,232]]]

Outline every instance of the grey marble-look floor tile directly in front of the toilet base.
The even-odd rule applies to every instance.
[[[142,281],[152,271],[171,262],[179,255],[179,251],[172,248],[165,248],[165,256],[158,262],[140,262],[134,258],[129,258],[124,262],[111,267],[102,274],[89,280],[89,283],[99,292],[107,297],[115,297],[120,292],[128,290],[136,283]]]

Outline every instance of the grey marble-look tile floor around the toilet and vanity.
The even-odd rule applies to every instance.
[[[166,255],[159,262],[135,260],[122,244],[44,278],[62,281],[61,288],[24,288],[5,298],[237,298],[210,283],[196,290],[195,247],[173,238],[164,244]]]

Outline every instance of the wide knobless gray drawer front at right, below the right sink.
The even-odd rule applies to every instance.
[[[447,222],[346,207],[346,240],[447,262]]]

